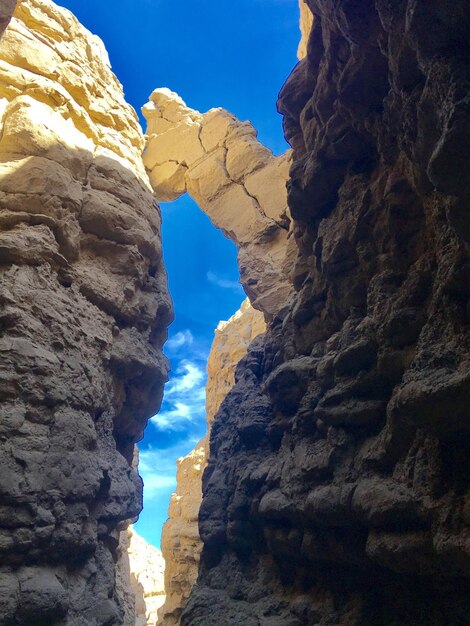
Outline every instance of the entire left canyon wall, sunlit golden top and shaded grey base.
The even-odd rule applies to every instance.
[[[171,317],[143,136],[100,40],[48,0],[3,35],[0,125],[0,621],[122,624]]]

